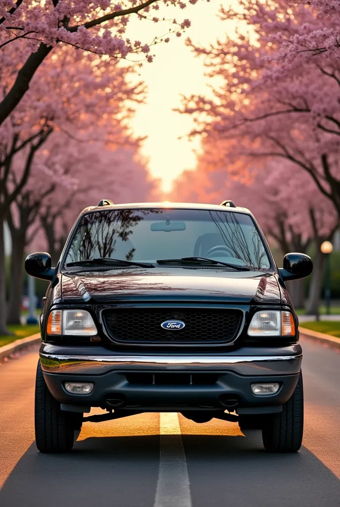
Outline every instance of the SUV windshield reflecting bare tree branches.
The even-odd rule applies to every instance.
[[[270,267],[263,241],[249,215],[201,209],[88,213],[73,236],[66,264],[98,258],[156,264],[157,260],[184,257],[202,257],[252,271]]]

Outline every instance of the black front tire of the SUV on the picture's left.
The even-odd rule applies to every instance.
[[[82,414],[60,410],[60,403],[50,393],[40,361],[35,382],[35,443],[40,452],[69,452],[73,447],[74,430],[81,428]]]

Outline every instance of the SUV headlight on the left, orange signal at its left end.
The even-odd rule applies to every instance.
[[[47,334],[94,336],[97,328],[86,310],[53,310],[47,322]]]

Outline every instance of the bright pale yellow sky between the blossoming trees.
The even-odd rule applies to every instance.
[[[224,6],[231,2],[224,2]],[[236,3],[235,1],[233,2]],[[161,3],[160,3],[161,4]],[[195,58],[185,39],[190,37],[195,44],[207,46],[217,38],[223,39],[226,29],[234,30],[233,24],[221,21],[218,10],[219,0],[199,0],[186,9],[162,8],[153,11],[158,17],[190,19],[192,25],[180,38],[171,36],[171,42],[154,46],[151,54],[156,57],[152,63],[144,63],[140,69],[140,79],[148,89],[147,101],[138,105],[131,125],[136,135],[148,136],[143,143],[142,155],[149,161],[148,167],[154,177],[161,178],[164,191],[171,189],[174,178],[185,169],[194,169],[199,149],[199,140],[189,141],[186,134],[193,126],[189,116],[174,112],[180,107],[181,94],[209,93],[207,78],[204,76],[202,58]],[[128,36],[147,43],[153,35],[162,35],[169,23],[132,19]],[[182,139],[179,140],[179,137]]]

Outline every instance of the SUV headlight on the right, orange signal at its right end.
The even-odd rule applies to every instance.
[[[249,336],[294,336],[293,315],[287,311],[269,310],[256,312],[248,328]]]

